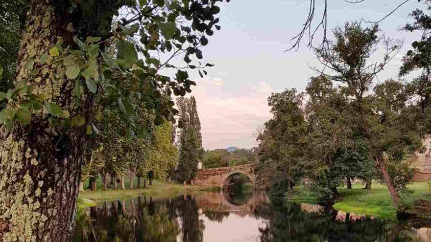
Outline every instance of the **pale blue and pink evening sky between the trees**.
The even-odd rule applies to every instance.
[[[401,1],[349,4],[329,0],[328,28],[361,18],[379,20]],[[205,149],[257,146],[253,132],[271,118],[267,97],[285,88],[305,89],[314,74],[309,65],[318,66],[312,51],[306,43],[296,52],[284,50],[300,31],[308,4],[309,0],[232,0],[219,4],[221,30],[209,37],[209,44],[202,49],[203,61],[215,66],[207,69],[204,78],[197,71],[189,71],[197,83],[191,94],[196,97]],[[411,20],[411,10],[418,7],[424,8],[424,4],[411,0],[380,24],[387,37],[405,41],[400,54],[379,75],[380,81],[397,77],[402,56],[419,38],[419,33],[399,30]],[[316,10],[316,20],[321,17],[320,10]]]

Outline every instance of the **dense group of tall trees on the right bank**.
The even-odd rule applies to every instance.
[[[426,15],[413,16],[405,30],[430,29]],[[431,132],[431,39],[424,35],[412,43],[398,73],[400,78],[414,70],[422,74],[407,82],[377,81],[402,43],[385,38],[377,24],[348,22],[333,34],[333,40],[314,48],[323,67],[316,68],[318,75],[304,92],[286,89],[268,98],[273,117],[258,137],[258,170],[273,177],[273,195],[292,193],[307,179],[327,203],[346,181],[349,186],[351,179],[360,179],[370,189],[377,180],[404,210],[402,196],[414,172],[409,157]]]

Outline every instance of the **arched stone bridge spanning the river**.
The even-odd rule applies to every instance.
[[[203,169],[198,172],[195,178],[195,184],[200,186],[208,187],[220,187],[223,188],[228,185],[232,177],[236,174],[243,174],[250,178],[254,185],[255,174],[254,174],[254,163],[249,163],[239,166],[228,166],[228,167],[218,167]]]

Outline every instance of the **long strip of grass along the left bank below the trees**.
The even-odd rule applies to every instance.
[[[135,187],[137,186],[137,179],[134,181]],[[91,205],[91,201],[98,203],[101,201],[115,200],[115,199],[128,199],[134,198],[140,195],[151,196],[151,197],[168,197],[177,196],[184,193],[200,193],[205,191],[215,190],[216,188],[208,188],[202,186],[191,186],[187,185],[184,187],[182,184],[176,182],[166,182],[160,180],[153,180],[153,184],[141,189],[128,189],[129,180],[126,179],[126,190],[103,190],[103,184],[100,179],[96,181],[96,191],[85,191],[79,193],[80,201],[85,201],[87,205]],[[84,187],[88,186],[88,182],[84,184]],[[93,205],[94,205],[93,203]],[[82,202],[80,202],[82,205]]]

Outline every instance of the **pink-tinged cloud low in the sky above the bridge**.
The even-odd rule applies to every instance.
[[[197,82],[196,98],[205,149],[256,146],[253,132],[271,117],[267,98],[275,90],[265,82],[229,90],[220,78]]]

